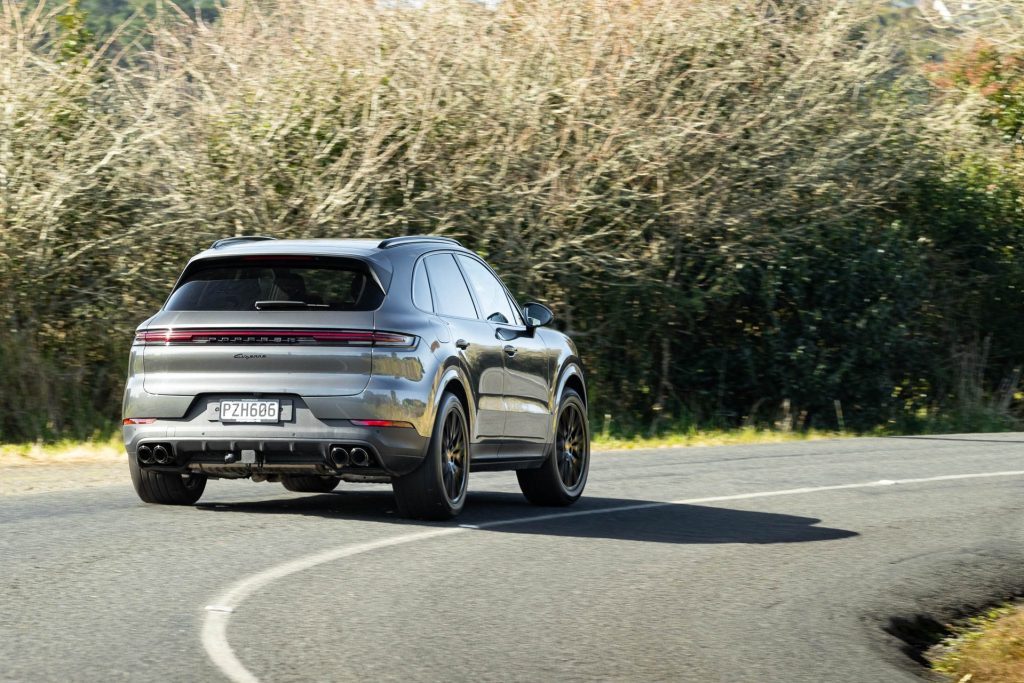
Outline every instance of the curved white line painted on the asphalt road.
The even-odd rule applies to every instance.
[[[459,526],[449,526],[444,528],[431,528],[424,531],[414,531],[394,536],[380,541],[370,541],[357,543],[349,546],[341,546],[322,553],[306,555],[298,559],[285,562],[269,569],[264,569],[258,573],[246,577],[219,595],[214,603],[206,607],[206,616],[203,620],[203,647],[214,666],[217,667],[228,679],[236,683],[259,683],[259,679],[253,675],[245,665],[239,659],[227,642],[227,622],[231,613],[238,609],[246,598],[259,589],[271,584],[279,579],[290,577],[293,573],[311,569],[319,564],[334,562],[353,555],[362,555],[383,548],[403,546],[408,543],[427,541],[442,536],[453,536],[468,530],[495,528],[497,526],[509,526],[512,524],[528,524],[532,522],[548,521],[551,519],[566,519],[569,517],[584,517],[586,515],[600,515],[614,512],[632,512],[635,510],[649,510],[651,508],[664,508],[670,505],[697,505],[700,503],[725,503],[728,501],[749,501],[758,498],[776,498],[779,496],[799,496],[801,494],[817,494],[827,490],[846,490],[850,488],[870,488],[873,486],[891,486],[894,484],[929,483],[933,481],[953,481],[957,479],[985,479],[994,477],[1024,476],[1024,470],[1011,470],[1005,472],[980,472],[974,474],[946,474],[942,476],[923,477],[919,479],[879,479],[877,481],[864,481],[860,483],[842,483],[830,486],[805,486],[803,488],[784,488],[782,490],[767,490],[754,494],[736,494],[734,496],[714,496],[710,498],[690,498],[681,501],[667,501],[664,503],[637,503],[635,505],[620,505],[611,508],[598,508],[593,510],[573,510],[570,512],[555,512],[546,515],[534,515],[531,517],[517,517],[515,519],[502,519],[498,521],[481,522],[479,524],[460,524]]]

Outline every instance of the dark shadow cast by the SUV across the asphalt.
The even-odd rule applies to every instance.
[[[518,494],[470,494],[458,520],[402,519],[386,492],[344,492],[241,503],[200,503],[197,509],[237,514],[309,515],[407,527],[467,525],[485,531],[674,544],[773,544],[835,541],[855,531],[816,526],[813,517],[613,498],[584,497],[571,508],[538,508]],[[410,529],[411,530],[411,529]]]

